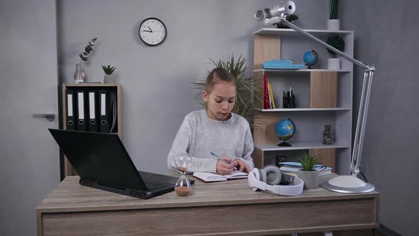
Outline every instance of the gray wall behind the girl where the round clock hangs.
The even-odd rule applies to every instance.
[[[327,1],[295,1],[304,28],[325,28]],[[253,35],[262,27],[254,11],[278,1],[58,1],[60,79],[72,82],[77,54],[90,38],[99,43],[85,65],[87,81],[116,65],[123,90],[123,141],[140,169],[165,173],[166,157],[185,114],[200,109],[191,82],[211,70],[208,58],[243,54],[253,65]],[[319,9],[315,11],[314,9]],[[162,45],[138,38],[139,23],[160,18]],[[251,68],[252,69],[252,68]],[[249,70],[251,72],[251,70]]]

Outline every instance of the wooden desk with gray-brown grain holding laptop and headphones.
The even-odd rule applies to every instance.
[[[367,229],[379,222],[376,191],[344,194],[318,188],[285,197],[251,191],[246,179],[197,180],[188,197],[171,192],[140,200],[78,181],[67,176],[38,205],[38,235],[278,235]]]

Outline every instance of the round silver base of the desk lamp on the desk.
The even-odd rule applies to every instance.
[[[371,183],[365,183],[355,176],[337,176],[320,183],[320,186],[337,193],[369,193],[375,189]]]

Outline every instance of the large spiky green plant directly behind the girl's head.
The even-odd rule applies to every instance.
[[[242,55],[239,58],[235,58],[234,54],[228,55],[227,58],[212,60],[209,58],[210,64],[214,67],[224,68],[236,79],[236,104],[234,105],[233,112],[241,115],[249,124],[253,127],[253,100],[261,100],[260,96],[252,96],[259,92],[263,92],[262,88],[257,85],[254,77],[246,77],[247,59]],[[209,73],[209,70],[207,70]],[[205,90],[205,79],[200,79],[192,82],[194,88],[199,90],[195,95],[195,100],[200,99],[202,91]],[[262,101],[262,100],[261,100]]]

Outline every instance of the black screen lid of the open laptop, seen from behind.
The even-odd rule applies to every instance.
[[[49,130],[81,178],[117,188],[146,190],[117,134]]]

